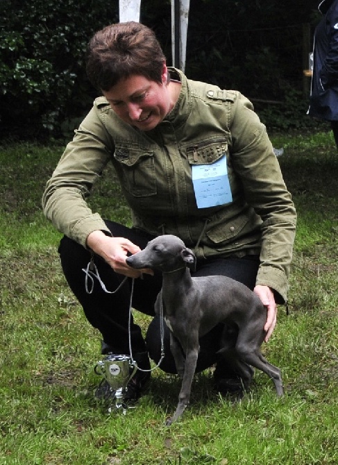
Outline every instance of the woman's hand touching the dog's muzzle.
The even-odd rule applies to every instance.
[[[100,255],[105,262],[110,264],[110,267],[119,274],[128,276],[129,278],[140,278],[142,273],[153,275],[151,269],[133,269],[126,264],[128,253],[132,255],[140,252],[140,247],[130,242],[125,237],[109,237],[102,231],[97,230],[90,233],[87,237],[87,246],[94,253]]]

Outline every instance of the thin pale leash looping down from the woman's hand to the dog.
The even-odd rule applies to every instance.
[[[90,262],[88,262],[87,267],[82,269],[82,271],[85,273],[85,291],[87,292],[87,294],[92,294],[92,291],[94,290],[94,278],[96,278],[99,281],[101,289],[103,289],[103,291],[105,291],[107,294],[115,294],[117,291],[119,291],[119,289],[121,289],[121,287],[124,285],[124,283],[128,279],[128,277],[125,276],[125,278],[121,281],[121,283],[119,284],[117,289],[115,289],[115,291],[108,291],[108,289],[105,287],[104,282],[101,280],[99,270],[97,269],[93,258],[90,260]],[[89,285],[89,281],[90,281],[90,285]],[[134,294],[134,281],[135,281],[135,278],[131,278],[131,291],[130,291],[129,316],[128,316],[128,342],[129,342],[130,359],[131,359],[131,362],[136,366],[137,370],[148,373],[148,372],[154,371],[155,369],[158,369],[160,364],[162,363],[162,360],[164,359],[164,315],[163,315],[162,290],[160,291],[160,296],[161,296],[160,298],[161,357],[157,365],[153,366],[153,368],[151,369],[146,370],[146,369],[140,368],[140,366],[137,366],[137,362],[135,362],[134,360],[133,350],[131,347],[131,318],[133,316],[132,305],[133,305],[133,294]]]

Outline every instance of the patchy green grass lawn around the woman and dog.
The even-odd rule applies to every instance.
[[[334,465],[338,463],[338,154],[330,133],[274,135],[298,211],[289,315],[263,352],[286,395],[256,372],[242,401],[196,375],[189,409],[170,428],[180,381],[160,370],[126,416],[94,398],[100,335],[60,271],[60,234],[40,198],[60,146],[0,146],[1,465]],[[92,208],[128,223],[107,169]],[[108,200],[109,198],[109,200]],[[149,319],[137,314],[142,328]]]

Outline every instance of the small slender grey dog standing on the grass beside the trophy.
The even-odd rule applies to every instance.
[[[171,352],[182,379],[178,406],[167,425],[176,421],[189,404],[199,350],[198,338],[221,322],[235,324],[238,329],[233,347],[227,347],[224,336],[221,353],[231,349],[244,379],[251,378],[250,366],[267,373],[275,384],[277,396],[283,395],[280,369],[270,364],[260,350],[266,335],[267,310],[251,289],[226,276],[192,277],[189,268],[194,269],[196,257],[174,235],[156,237],[126,262],[135,269],[162,271],[162,289],[155,311],[158,313],[162,305],[164,320],[170,330]]]

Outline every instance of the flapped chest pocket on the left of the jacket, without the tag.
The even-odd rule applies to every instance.
[[[123,189],[135,197],[157,194],[153,151],[139,145],[119,144],[114,158],[119,163]]]

